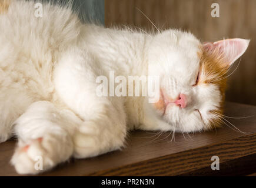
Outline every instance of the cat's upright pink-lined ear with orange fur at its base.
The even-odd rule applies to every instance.
[[[225,39],[213,43],[205,42],[202,49],[208,53],[214,53],[230,66],[246,51],[249,42],[250,40],[246,39]]]

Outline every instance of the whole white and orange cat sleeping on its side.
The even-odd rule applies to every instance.
[[[245,39],[200,43],[174,29],[144,33],[82,24],[70,6],[0,2],[0,142],[18,137],[11,163],[39,173],[70,157],[124,146],[132,129],[199,132],[220,125],[227,71]],[[158,76],[159,100],[99,97],[100,75]],[[36,157],[43,170],[36,170]]]

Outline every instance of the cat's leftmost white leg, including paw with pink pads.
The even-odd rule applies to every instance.
[[[14,126],[18,136],[11,163],[18,173],[34,174],[65,162],[74,152],[72,134],[81,120],[51,102],[33,103]]]

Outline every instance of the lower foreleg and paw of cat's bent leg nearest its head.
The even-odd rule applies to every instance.
[[[88,117],[74,134],[74,157],[97,156],[124,146],[126,119],[123,105],[117,100],[113,98],[109,103],[91,109],[94,115]]]

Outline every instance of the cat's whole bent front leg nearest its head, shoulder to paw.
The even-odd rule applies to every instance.
[[[97,75],[101,66],[89,52],[74,49],[55,67],[56,92],[84,120],[75,132],[74,156],[97,156],[124,145],[126,115],[121,98],[98,96]]]

